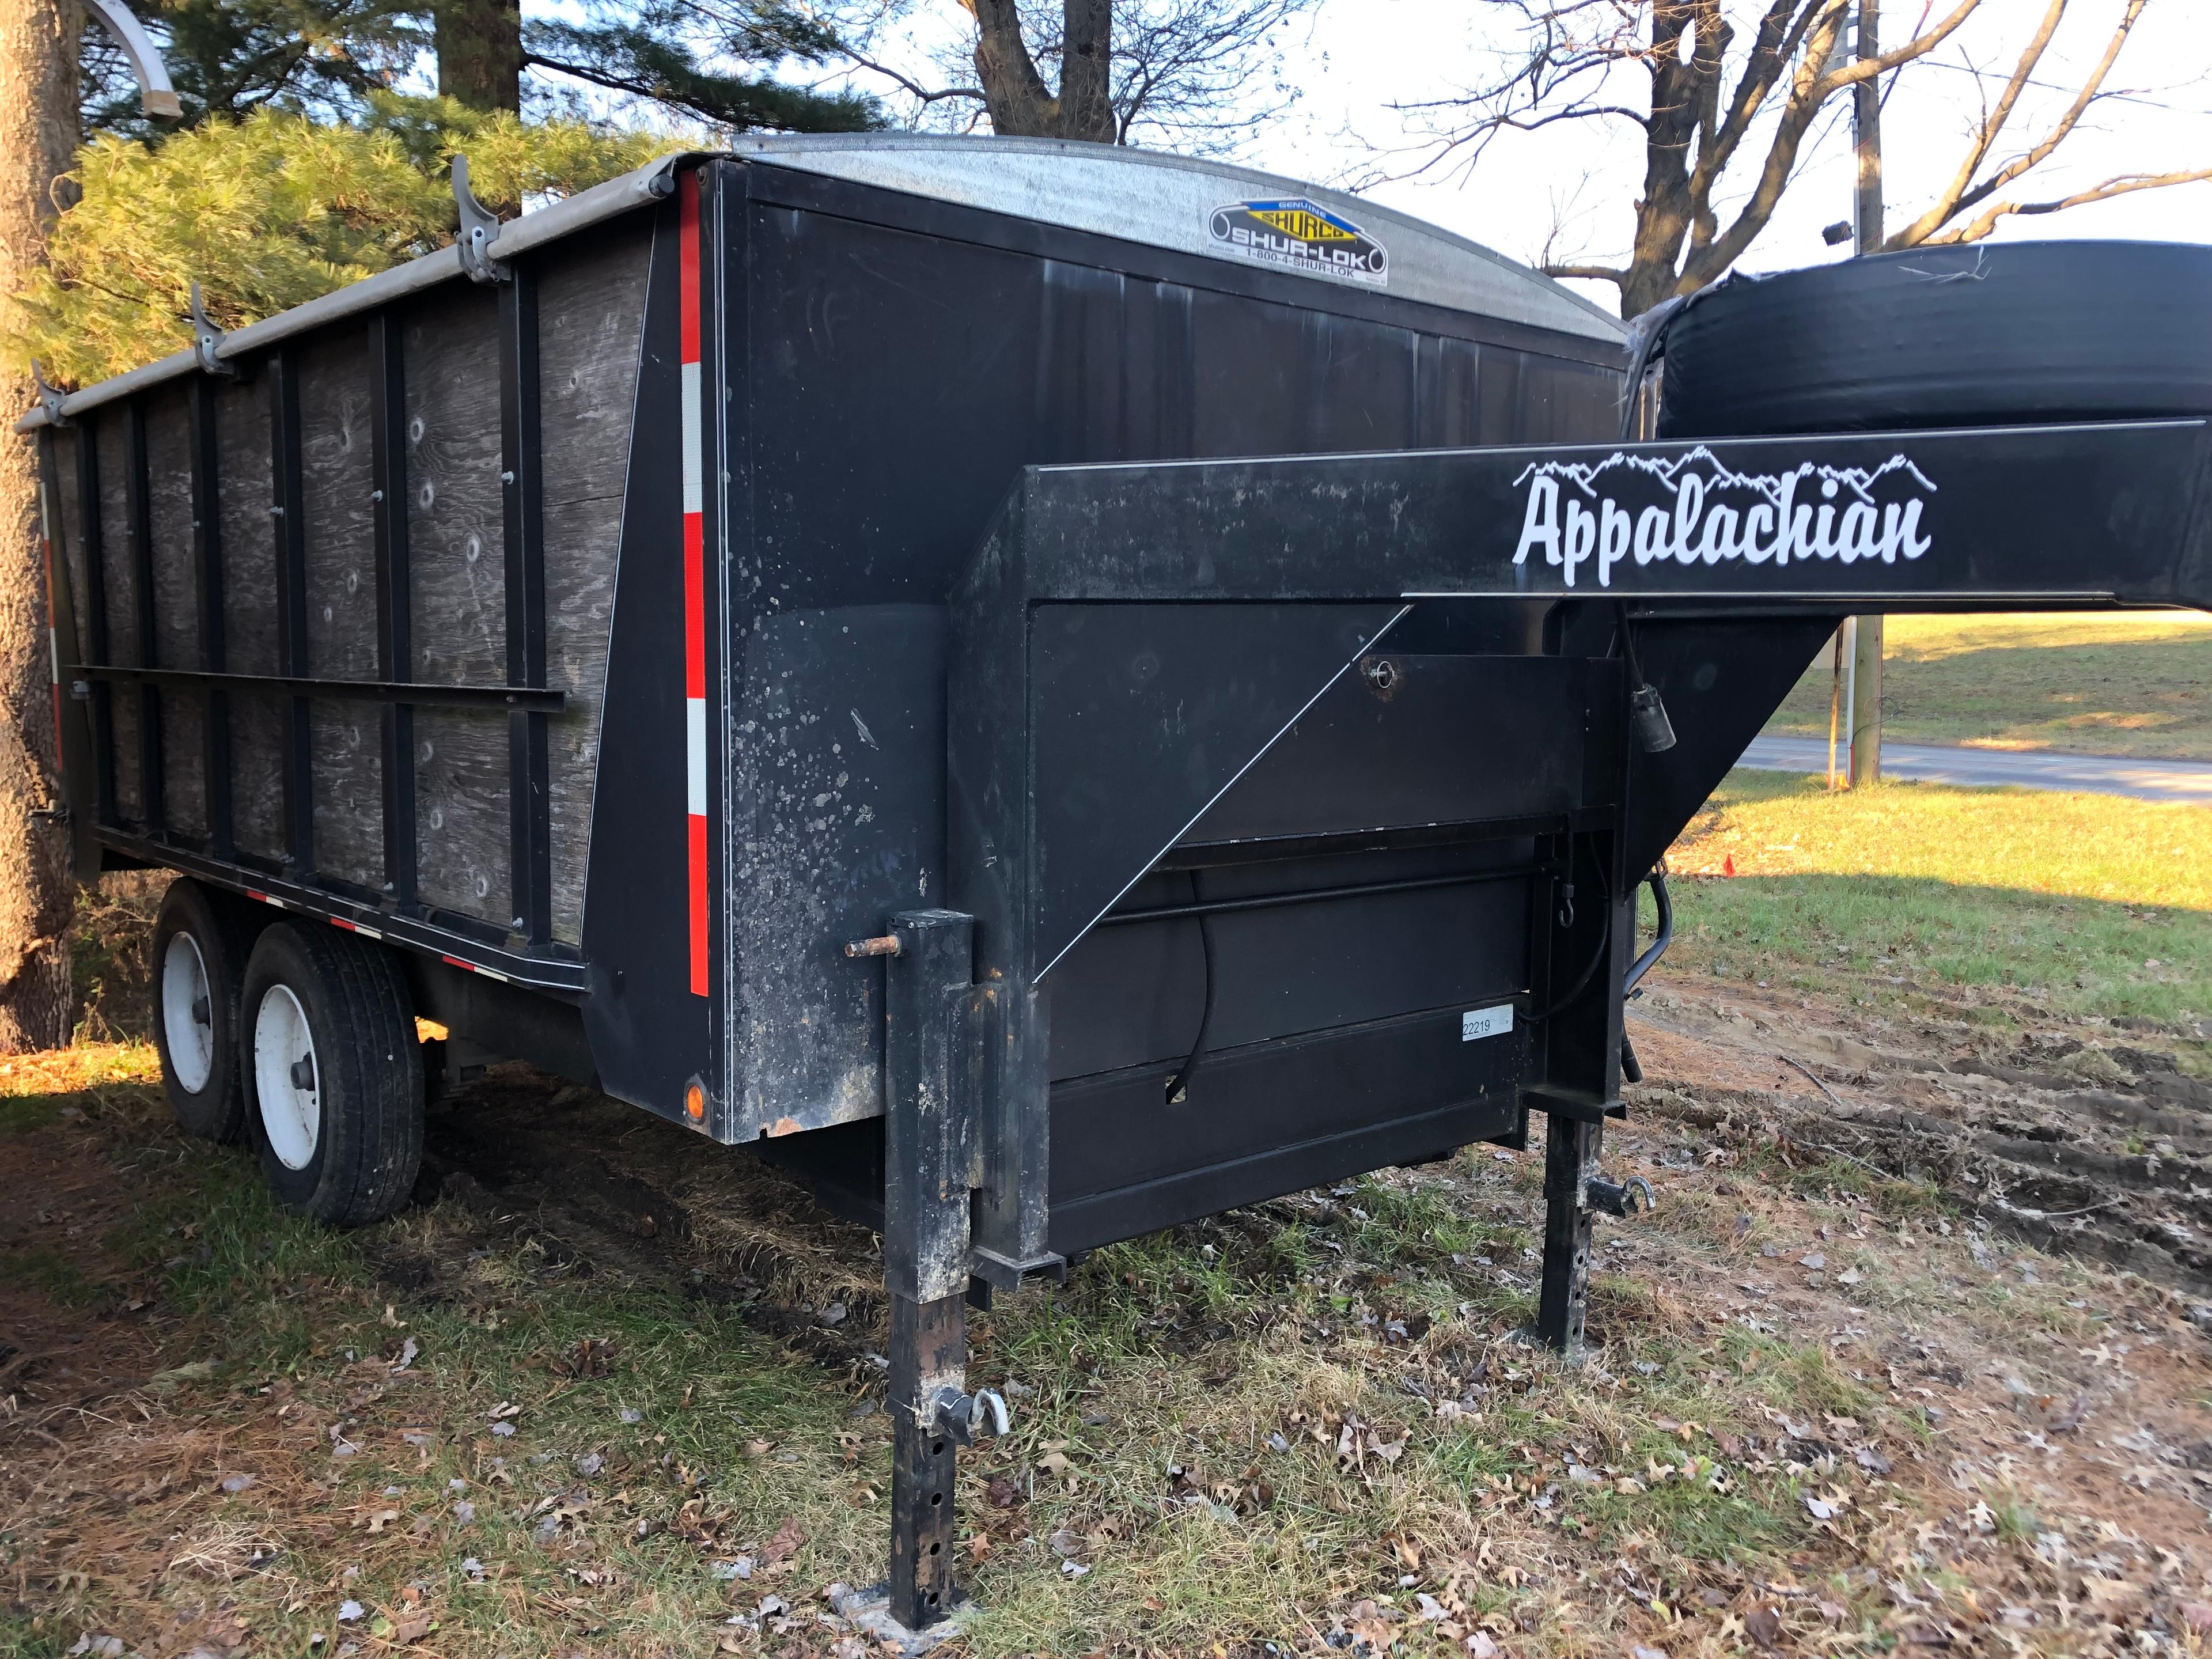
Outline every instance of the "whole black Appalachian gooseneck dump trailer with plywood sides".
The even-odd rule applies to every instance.
[[[1004,1425],[971,1298],[1540,1113],[1577,1343],[1639,1197],[1599,1164],[1637,891],[1836,624],[2212,599],[2199,378],[2044,396],[2000,349],[1863,418],[1785,285],[1630,334],[1374,204],[1079,144],[456,197],[451,248],[20,422],[53,834],[184,876],[168,1095],[301,1212],[392,1214],[425,1091],[518,1057],[876,1225],[909,1628]],[[1860,265],[1836,305],[1971,299]]]

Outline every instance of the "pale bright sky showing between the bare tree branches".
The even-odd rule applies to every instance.
[[[1885,40],[1909,38],[1929,9],[1953,0],[1885,0]],[[577,0],[531,0],[531,13],[575,11]],[[1993,161],[2015,155],[2048,128],[2079,75],[2101,53],[2126,0],[2070,0],[2066,20],[2006,128]],[[1885,188],[1889,226],[1909,221],[1949,179],[1966,131],[1993,97],[2044,0],[1984,0],[1980,13],[1931,60],[1902,71],[1885,102]],[[911,0],[909,35],[883,46],[896,66],[940,82],[931,55],[960,51],[971,22],[958,0]],[[1498,0],[1314,0],[1281,35],[1281,60],[1265,80],[1296,97],[1259,126],[1232,159],[1292,179],[1354,188],[1402,212],[1531,263],[1555,257],[1615,263],[1632,228],[1644,168],[1641,131],[1628,122],[1555,124],[1506,133],[1480,159],[1438,157],[1427,142],[1438,113],[1418,106],[1451,100],[1495,73],[1517,35],[1511,7]],[[867,75],[856,84],[887,91]],[[1621,73],[1617,102],[1641,102],[1641,71]],[[2212,0],[2148,0],[2108,82],[2121,93],[2090,108],[2066,144],[2006,195],[2053,199],[2124,173],[2212,166]],[[1752,150],[1752,146],[1745,146]],[[1763,153],[1763,150],[1761,150]],[[1750,173],[1739,161],[1739,173]],[[1785,270],[1849,254],[1829,248],[1820,228],[1851,215],[1851,126],[1836,100],[1798,159],[1798,177],[1745,270]],[[2062,215],[2008,219],[2000,239],[2130,237],[2212,241],[2212,181],[2143,190]],[[1575,283],[1606,310],[1608,283]]]

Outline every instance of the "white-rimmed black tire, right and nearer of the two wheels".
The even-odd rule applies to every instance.
[[[276,1201],[338,1228],[398,1212],[422,1166],[422,1055],[392,951],[279,922],[241,1006],[246,1124]]]

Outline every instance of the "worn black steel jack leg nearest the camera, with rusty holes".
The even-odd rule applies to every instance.
[[[891,1604],[922,1630],[958,1601],[958,1447],[940,1396],[964,1396],[975,920],[891,918],[885,962],[883,1274],[891,1298]]]

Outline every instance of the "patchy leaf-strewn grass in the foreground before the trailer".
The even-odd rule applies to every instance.
[[[157,1387],[179,1418],[124,1422],[137,1438],[113,1462],[71,1464],[86,1491],[150,1493],[150,1509],[51,1537],[42,1511],[0,1513],[0,1579],[49,1586],[38,1630],[0,1608],[0,1655],[108,1628],[150,1652],[155,1626],[210,1597],[250,1619],[252,1652],[358,1639],[334,1624],[354,1599],[365,1655],[405,1646],[414,1617],[436,1619],[436,1652],[706,1655],[768,1593],[801,1608],[796,1641],[823,1584],[880,1575],[889,1427],[869,1367],[838,1374],[743,1310],[577,1276],[451,1206],[349,1234],[296,1221],[250,1157],[166,1133],[144,1048],[126,1055],[71,1062],[97,1082],[64,1095],[82,1128],[62,1133],[106,1137],[124,1186],[100,1272],[38,1250],[9,1272],[73,1310],[131,1285],[177,1332],[159,1363],[201,1365]],[[1714,1442],[1679,1422],[1759,1433],[1763,1405],[1880,1409],[1823,1349],[1781,1343],[1750,1365],[1756,1400],[1739,1398],[1734,1336],[1686,1343],[1666,1292],[1619,1276],[1597,1303],[1632,1303],[1613,1318],[1621,1380],[1595,1387],[1502,1340],[1528,1298],[1486,1261],[1533,1267],[1524,1230],[1473,1197],[1520,1217],[1531,1170],[1475,1148],[1420,1179],[1099,1250],[1066,1290],[975,1316],[971,1376],[1022,1391],[1015,1433],[962,1460],[969,1652],[1305,1650],[1363,1597],[1409,1617],[1405,1577],[1458,1582],[1469,1617],[1506,1635],[1555,1617],[1540,1586],[1562,1548],[1641,1548],[1686,1584],[1783,1571],[1809,1537],[1798,1478],[1714,1480]],[[414,1265],[436,1283],[409,1292]],[[1427,1396],[1460,1387],[1475,1420],[1431,1413]],[[1571,1447],[1608,1467],[1601,1486],[1568,1480]],[[234,1473],[254,1484],[223,1493]],[[993,1480],[1020,1500],[995,1504]],[[770,1568],[779,1533],[801,1542]],[[1478,1548],[1504,1553],[1475,1575]],[[752,1579],[717,1577],[739,1555]],[[1515,1562],[1528,1571],[1500,1575]],[[1619,1635],[1619,1619],[1599,1624]],[[743,1652],[821,1650],[732,1635]]]

